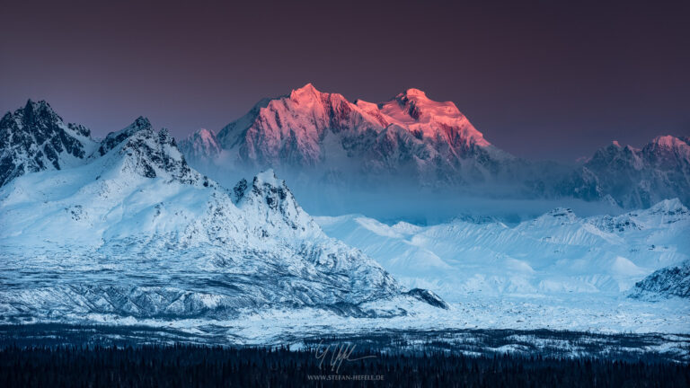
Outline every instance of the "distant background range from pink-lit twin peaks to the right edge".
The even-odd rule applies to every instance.
[[[380,103],[350,102],[306,84],[259,101],[217,133],[200,129],[181,141],[181,150],[217,179],[274,168],[294,185],[313,183],[309,190],[402,183],[411,190],[637,208],[668,198],[690,202],[689,142],[656,137],[641,149],[615,142],[578,166],[528,161],[491,145],[453,102],[432,101],[420,90]]]

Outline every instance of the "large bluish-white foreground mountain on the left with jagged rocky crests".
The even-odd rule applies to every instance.
[[[272,171],[226,190],[147,119],[86,159],[0,189],[4,322],[229,319],[269,308],[385,317],[436,300],[323,234]]]

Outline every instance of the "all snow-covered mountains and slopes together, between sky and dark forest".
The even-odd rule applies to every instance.
[[[638,319],[644,330],[686,327],[686,300],[668,301],[687,295],[687,139],[615,144],[576,168],[537,176],[543,166],[498,150],[455,105],[420,91],[368,104],[307,85],[260,106],[180,148],[143,117],[93,139],[45,101],[5,114],[2,322],[222,327],[230,337],[341,325],[514,327],[516,319],[527,328],[627,330],[641,327]],[[209,172],[261,172],[228,185],[187,155]],[[375,186],[393,177],[451,195],[456,185],[512,180],[534,198],[650,206],[587,217],[558,207],[517,225],[491,216],[430,226],[314,219],[281,171],[307,179],[323,172],[315,182],[346,188],[345,196],[357,179]],[[389,190],[374,202],[398,195]],[[533,315],[544,309],[578,318]],[[272,323],[257,323],[264,319]]]

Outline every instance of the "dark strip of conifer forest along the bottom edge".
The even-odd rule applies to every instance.
[[[690,366],[602,359],[352,354],[323,349],[140,346],[0,349],[4,387],[686,387]],[[338,380],[317,380],[338,379]],[[358,380],[354,380],[358,379]],[[363,380],[367,379],[367,380]]]

